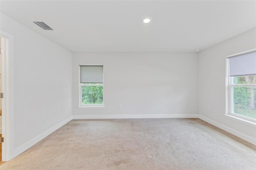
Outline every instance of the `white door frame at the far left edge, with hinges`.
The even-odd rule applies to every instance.
[[[5,38],[6,45],[2,57],[2,161],[14,158],[14,50],[13,35],[0,30],[0,37]]]

